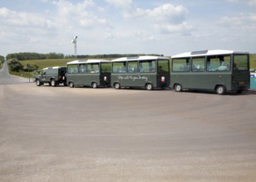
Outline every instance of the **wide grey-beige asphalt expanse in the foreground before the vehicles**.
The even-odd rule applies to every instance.
[[[255,96],[0,84],[0,181],[256,181]]]

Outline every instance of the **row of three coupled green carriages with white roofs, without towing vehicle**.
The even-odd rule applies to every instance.
[[[249,89],[249,53],[200,50],[164,56],[116,60],[74,60],[67,63],[66,84],[142,89],[209,90],[218,94]]]

